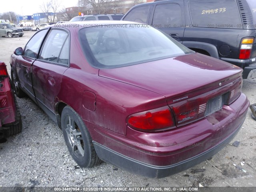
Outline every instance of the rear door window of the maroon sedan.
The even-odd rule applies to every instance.
[[[58,62],[60,52],[67,37],[68,33],[63,30],[52,30],[44,43],[40,59]]]

